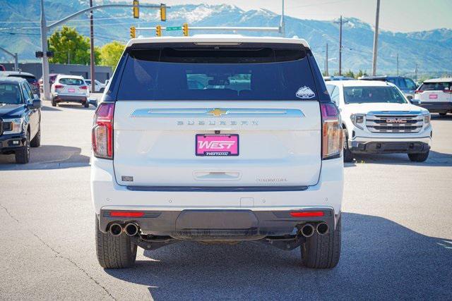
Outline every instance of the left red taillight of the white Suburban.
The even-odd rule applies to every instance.
[[[112,102],[103,102],[95,112],[92,144],[97,158],[113,159],[113,113]]]

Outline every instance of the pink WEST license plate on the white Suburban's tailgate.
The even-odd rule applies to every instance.
[[[196,156],[238,156],[239,135],[196,135]]]

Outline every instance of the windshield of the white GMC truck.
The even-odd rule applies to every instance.
[[[396,87],[344,87],[344,100],[345,104],[406,103]]]

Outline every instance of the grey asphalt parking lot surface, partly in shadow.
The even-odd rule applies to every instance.
[[[359,156],[345,166],[343,250],[335,269],[254,242],[182,242],[104,270],[90,201],[94,108],[42,109],[30,164],[0,156],[0,299],[451,299],[452,115],[432,118],[429,159]]]

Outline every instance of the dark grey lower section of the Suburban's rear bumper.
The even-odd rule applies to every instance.
[[[116,207],[112,209],[118,211]],[[143,217],[120,219],[110,216],[112,209],[105,207],[100,211],[99,228],[102,232],[108,231],[112,223],[123,227],[127,223],[136,223],[143,235],[169,236],[179,240],[258,240],[268,236],[293,235],[299,225],[307,222],[325,222],[329,228],[335,227],[334,209],[331,207],[304,210],[323,212],[323,216],[318,217],[293,217],[291,211],[186,209],[141,211]]]

